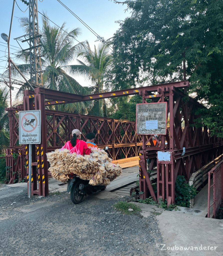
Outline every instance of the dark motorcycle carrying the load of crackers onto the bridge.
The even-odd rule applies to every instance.
[[[108,150],[108,147],[105,147],[105,150]],[[70,199],[74,204],[80,204],[84,196],[103,191],[105,188],[106,186],[92,186],[89,184],[89,180],[80,179],[76,174],[70,174],[67,182],[67,193],[70,192]]]

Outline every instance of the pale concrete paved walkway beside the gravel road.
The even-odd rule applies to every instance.
[[[168,255],[222,256],[223,220],[210,219],[179,211],[166,211],[152,205],[135,203],[144,217],[155,214],[164,243],[157,248]]]

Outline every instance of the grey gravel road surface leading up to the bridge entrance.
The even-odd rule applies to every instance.
[[[123,215],[112,207],[124,197],[88,196],[74,205],[65,192],[28,199],[26,189],[8,191],[12,196],[0,196],[0,255],[167,255],[155,246],[163,241],[155,215]]]

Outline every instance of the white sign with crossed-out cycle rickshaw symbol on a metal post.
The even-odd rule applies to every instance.
[[[19,112],[19,144],[41,143],[40,110]]]

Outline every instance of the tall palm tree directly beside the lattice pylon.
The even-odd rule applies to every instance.
[[[77,45],[73,45],[77,36],[81,34],[80,29],[76,28],[68,32],[68,30],[64,30],[65,23],[61,26],[61,28],[54,26],[51,27],[49,25],[49,20],[47,16],[42,16],[43,27],[40,30],[41,44],[43,45],[40,48],[41,54],[41,65],[42,70],[45,70],[43,73],[43,84],[48,89],[76,93],[76,94],[89,94],[89,90],[87,87],[82,87],[73,77],[69,76],[65,69],[69,69],[69,63],[74,60],[75,56],[77,56],[78,52],[82,51],[86,45],[81,42]],[[29,21],[27,17],[20,18],[21,27],[27,32]],[[18,65],[17,67],[21,72],[23,72],[26,76],[30,73],[29,67],[29,52],[19,52],[17,55],[18,59],[22,59],[27,64]],[[19,76],[19,73],[14,70],[15,75]],[[20,88],[20,92],[26,90],[27,85],[24,84],[23,87]],[[89,110],[90,103],[89,102],[79,102],[79,103],[70,103],[61,106],[61,110],[85,114],[87,109]]]

